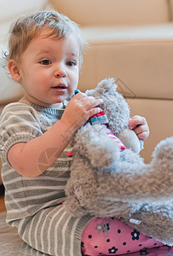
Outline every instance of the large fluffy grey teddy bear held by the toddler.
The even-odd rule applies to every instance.
[[[114,79],[104,79],[85,93],[103,99],[108,125],[88,122],[73,139],[66,211],[115,217],[173,246],[173,137],[161,141],[145,164],[141,142],[128,126],[130,108]]]

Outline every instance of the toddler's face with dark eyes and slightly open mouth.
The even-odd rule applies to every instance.
[[[26,99],[55,107],[72,96],[78,86],[79,46],[73,34],[61,40],[33,38],[20,58],[20,84]]]

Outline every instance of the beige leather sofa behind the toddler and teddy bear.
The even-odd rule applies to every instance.
[[[15,14],[9,15],[8,25],[16,12],[19,15],[32,9],[49,9],[46,0],[16,2],[20,4],[16,5]],[[141,156],[149,162],[154,146],[173,135],[173,0],[50,0],[50,3],[78,22],[89,43],[84,52],[79,89],[93,88],[101,79],[113,77],[118,90],[127,97],[131,115],[146,117],[151,132]],[[28,9],[24,9],[26,6]],[[5,41],[0,43],[4,48]],[[3,68],[0,77],[3,107],[19,98],[22,90],[7,79]]]

